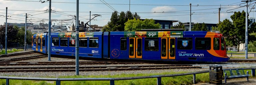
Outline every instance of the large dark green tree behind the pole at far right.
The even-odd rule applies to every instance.
[[[238,11],[234,12],[233,15],[230,16],[232,19],[232,23],[225,19],[218,26],[218,30],[222,33],[226,38],[226,43],[229,46],[238,46],[241,43],[245,43],[245,12]],[[248,26],[250,21],[248,20]],[[256,24],[253,23],[248,29],[248,34],[255,32]],[[255,40],[255,35],[248,35],[248,42]]]

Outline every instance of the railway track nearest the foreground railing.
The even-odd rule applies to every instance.
[[[141,65],[141,66],[85,66],[79,67],[79,71],[123,71],[123,70],[157,70],[176,68],[201,68],[190,65]],[[75,67],[6,67],[0,72],[62,72],[75,71]]]

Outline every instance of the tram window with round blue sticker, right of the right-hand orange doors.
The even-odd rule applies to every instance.
[[[192,49],[192,38],[177,38],[178,49]]]

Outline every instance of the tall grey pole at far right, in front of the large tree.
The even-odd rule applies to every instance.
[[[247,59],[248,58],[248,0],[246,0],[245,16],[246,16],[245,18],[245,59]]]

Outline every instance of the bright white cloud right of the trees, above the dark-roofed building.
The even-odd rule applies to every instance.
[[[169,6],[160,6],[160,7],[155,7],[151,9],[151,12],[170,12],[170,11],[175,11],[176,9],[173,7]]]

